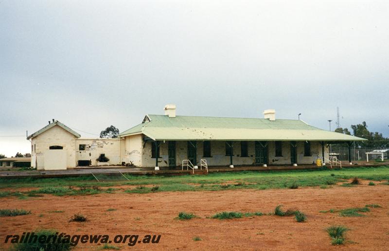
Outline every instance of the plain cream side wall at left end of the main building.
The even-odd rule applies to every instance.
[[[122,161],[132,163],[135,166],[142,166],[142,135],[126,136],[124,138],[124,152],[122,153]]]

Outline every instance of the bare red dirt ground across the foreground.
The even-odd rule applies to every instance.
[[[71,235],[161,235],[159,244],[112,244],[122,250],[388,250],[389,186],[327,189],[268,189],[148,194],[98,194],[91,196],[34,197],[27,200],[1,198],[1,208],[23,208],[32,214],[0,218],[0,247],[5,235],[51,228]],[[260,216],[234,220],[206,217],[221,211],[268,213],[283,204],[307,215],[299,223],[293,217]],[[321,210],[380,204],[363,213],[366,217],[345,218]],[[108,208],[116,211],[106,211]],[[63,210],[63,213],[49,211]],[[200,219],[175,220],[178,212],[193,212]],[[69,222],[75,213],[89,221]],[[42,217],[39,215],[43,214]],[[332,246],[325,228],[340,224],[350,228],[343,246]],[[194,241],[199,236],[201,241]],[[7,248],[5,246],[3,248]],[[79,244],[75,250],[96,250],[101,246]]]

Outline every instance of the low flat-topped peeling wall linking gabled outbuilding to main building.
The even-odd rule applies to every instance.
[[[85,150],[79,150],[79,145],[85,144]],[[76,140],[75,165],[78,160],[90,160],[92,166],[97,166],[97,158],[100,154],[105,154],[109,158],[109,165],[121,164],[120,159],[120,140],[119,139],[83,139]]]

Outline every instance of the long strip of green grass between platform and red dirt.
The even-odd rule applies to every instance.
[[[334,174],[332,176],[331,174]],[[117,192],[112,186],[130,185],[136,188],[128,189],[128,193],[149,193],[163,191],[203,191],[203,190],[232,190],[232,189],[268,189],[320,187],[346,182],[347,179],[358,177],[372,181],[389,179],[389,166],[383,167],[355,167],[339,170],[288,170],[288,171],[242,171],[226,173],[209,173],[208,175],[182,175],[182,176],[148,176],[148,175],[102,175],[104,182],[97,182],[93,176],[63,177],[63,178],[19,178],[0,179],[0,188],[28,188],[37,189],[31,192],[1,191],[0,197],[25,197],[38,194],[53,195],[90,195],[98,193]],[[235,185],[223,185],[228,183]],[[222,184],[222,185],[221,185]],[[95,187],[98,185],[100,188]],[[153,185],[154,188],[145,187]],[[73,186],[71,188],[69,186]],[[353,185],[344,185],[353,186]],[[108,189],[104,189],[104,188]],[[158,188],[156,188],[158,187]],[[122,191],[120,191],[122,192]]]

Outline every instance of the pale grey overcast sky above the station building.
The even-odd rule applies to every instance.
[[[339,107],[341,126],[388,137],[388,16],[387,0],[1,0],[0,153],[30,152],[4,136],[52,118],[96,137],[168,103],[177,115],[302,113],[323,129]]]

